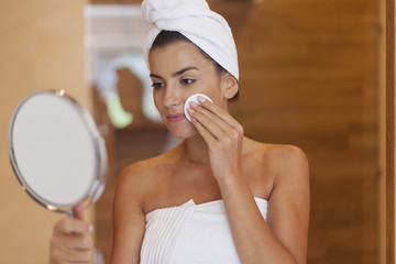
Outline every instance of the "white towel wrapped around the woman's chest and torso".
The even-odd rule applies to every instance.
[[[267,220],[268,201],[254,198]],[[145,216],[141,264],[240,264],[223,200],[156,209]],[[254,227],[253,227],[254,228]]]

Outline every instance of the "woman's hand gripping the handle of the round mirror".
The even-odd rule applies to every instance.
[[[50,242],[50,263],[94,263],[92,230],[91,224],[82,221],[82,212],[58,221]]]

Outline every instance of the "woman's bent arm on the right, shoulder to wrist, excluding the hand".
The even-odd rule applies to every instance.
[[[304,153],[296,147],[279,152],[274,158],[284,167],[276,175],[268,199],[267,222],[263,220],[243,176],[223,178],[219,183],[235,246],[243,263],[306,263],[308,163]]]

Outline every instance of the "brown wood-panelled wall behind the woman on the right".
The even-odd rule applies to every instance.
[[[308,263],[378,260],[377,20],[376,1],[263,1],[235,32],[234,116],[310,161]]]

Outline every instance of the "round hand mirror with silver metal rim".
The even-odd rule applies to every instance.
[[[106,185],[105,141],[90,114],[61,91],[24,98],[11,119],[10,162],[22,188],[51,211],[95,202]]]

